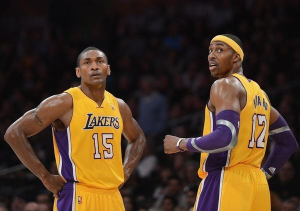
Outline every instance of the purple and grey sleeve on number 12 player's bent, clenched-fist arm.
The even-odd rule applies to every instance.
[[[187,150],[191,152],[219,153],[232,149],[238,141],[240,116],[233,110],[223,110],[216,116],[217,128],[208,135],[189,138]]]

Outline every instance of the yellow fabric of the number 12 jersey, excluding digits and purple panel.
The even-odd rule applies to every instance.
[[[247,92],[247,102],[246,106],[241,110],[240,113],[240,127],[238,132],[238,142],[236,146],[231,150],[231,155],[229,159],[229,165],[228,167],[234,166],[238,163],[242,164],[249,164],[251,166],[260,168],[262,158],[265,155],[265,146],[267,145],[268,140],[268,130],[269,130],[269,118],[270,118],[270,110],[271,107],[269,105],[268,99],[265,96],[265,93],[260,89],[259,85],[251,81],[249,82],[246,77],[240,75],[240,74],[232,74],[232,76],[238,78],[238,80],[242,83],[244,88]],[[255,96],[259,96],[260,98],[260,104],[263,105],[263,103],[267,104],[267,110],[265,110],[262,106],[254,106],[253,99]],[[207,135],[211,133],[211,116],[210,111],[208,110],[207,106],[205,108],[205,122],[204,122],[204,128],[203,128],[203,135]],[[255,125],[255,133],[254,137],[257,139],[259,137],[259,134],[262,133],[263,128],[265,127],[265,137],[264,137],[264,148],[257,148],[256,143],[254,144],[253,148],[249,148],[249,141],[251,140],[252,135],[252,124],[253,124],[253,115],[254,113],[259,115],[264,115],[267,124],[264,125],[258,125],[258,121],[256,119],[256,125]],[[257,118],[257,117],[256,117]],[[205,178],[206,173],[203,170],[203,164],[205,163],[205,159],[207,158],[208,153],[201,153],[201,160],[200,160],[200,167],[198,170],[198,175],[201,178]]]

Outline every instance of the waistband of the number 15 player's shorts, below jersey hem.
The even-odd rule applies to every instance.
[[[110,188],[110,189],[103,189],[103,188],[95,188],[91,187],[88,185],[85,185],[80,182],[66,182],[64,183],[64,188],[63,189],[74,189],[80,190],[80,191],[85,191],[85,192],[93,192],[93,193],[115,193],[119,191],[118,188]]]

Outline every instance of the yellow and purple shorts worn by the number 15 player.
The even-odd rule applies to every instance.
[[[53,211],[124,211],[124,203],[118,188],[98,189],[76,182],[66,182],[55,198]]]

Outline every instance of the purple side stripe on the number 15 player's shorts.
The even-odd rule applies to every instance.
[[[56,203],[57,211],[72,211],[73,191],[73,182],[66,182],[59,193]]]

